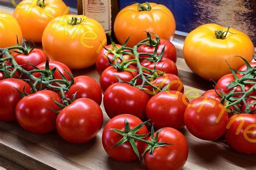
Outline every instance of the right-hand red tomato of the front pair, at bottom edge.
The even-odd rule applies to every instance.
[[[155,137],[156,134],[157,132],[154,133]],[[188,157],[188,144],[183,134],[173,128],[164,128],[160,131],[157,141],[172,143],[172,145],[156,147],[152,155],[146,152],[144,161],[147,169],[181,169]]]

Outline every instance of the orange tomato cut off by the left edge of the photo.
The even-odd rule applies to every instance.
[[[0,48],[17,45],[22,39],[21,27],[17,20],[7,13],[0,12]]]

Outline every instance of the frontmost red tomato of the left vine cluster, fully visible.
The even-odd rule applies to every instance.
[[[94,138],[102,124],[102,109],[90,98],[78,98],[60,111],[56,120],[59,135],[72,143]]]

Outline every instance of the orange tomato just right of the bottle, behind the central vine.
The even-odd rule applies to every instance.
[[[134,3],[122,9],[114,20],[114,34],[120,44],[129,37],[127,46],[133,47],[145,39],[145,31],[156,33],[161,39],[171,40],[176,23],[172,12],[156,3]]]

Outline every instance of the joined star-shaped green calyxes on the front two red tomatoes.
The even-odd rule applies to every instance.
[[[119,129],[109,129],[109,130],[114,131],[114,132],[123,136],[123,138],[121,140],[119,140],[118,143],[116,143],[116,145],[114,145],[112,147],[120,146],[120,145],[122,145],[122,144],[124,144],[128,141],[131,144],[134,153],[136,153],[138,159],[140,160],[140,154],[139,154],[138,148],[135,144],[136,140],[141,141],[141,142],[148,145],[146,150],[144,151],[144,154],[147,151],[150,151],[150,154],[152,154],[153,151],[154,151],[154,148],[162,147],[162,146],[165,146],[165,145],[171,145],[170,143],[163,143],[163,142],[158,142],[157,141],[158,140],[158,135],[159,135],[161,129],[157,131],[157,135],[156,135],[156,137],[154,137],[153,125],[152,125],[152,128],[151,128],[151,141],[150,140],[145,140],[145,138],[148,136],[148,134],[136,134],[149,121],[140,123],[139,125],[137,125],[132,130],[131,130],[129,122],[127,121],[126,118],[125,118],[124,121],[125,121],[125,125],[124,125],[125,130],[124,131],[119,130]]]

